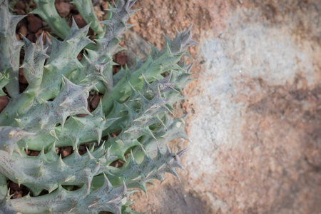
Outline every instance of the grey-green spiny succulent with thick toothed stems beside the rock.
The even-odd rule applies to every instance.
[[[50,36],[44,45],[43,35],[36,43],[18,41],[16,24],[24,16],[11,14],[8,0],[0,0],[0,86],[6,91],[0,95],[9,97],[0,113],[0,213],[136,213],[128,201],[135,189],[146,192],[146,183],[163,180],[164,173],[178,177],[175,168],[183,168],[185,150],[173,153],[167,143],[188,138],[185,118],[170,114],[191,81],[192,65],[182,60],[185,49],[196,44],[191,31],[177,31],[173,41],[165,37],[163,49],[151,46],[147,58],[136,58],[113,75],[113,55],[122,50],[136,0],[110,5],[104,21],[98,21],[91,0],[74,0],[89,23],[82,29],[58,16],[54,0],[34,2],[32,13],[63,41]],[[96,32],[94,41],[88,39],[89,28]],[[19,66],[29,83],[23,93]],[[87,101],[91,91],[103,94],[93,112]],[[81,155],[78,148],[85,143],[91,146]],[[72,146],[73,153],[61,158],[58,146]],[[40,153],[28,156],[28,150]],[[113,167],[118,160],[124,165]],[[25,185],[31,195],[11,199],[7,179]],[[39,195],[43,190],[48,193]]]

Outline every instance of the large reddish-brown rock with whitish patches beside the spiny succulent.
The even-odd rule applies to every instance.
[[[148,213],[321,212],[321,2],[138,1],[128,37],[160,48],[193,25],[196,81],[182,183],[134,195]],[[133,42],[128,40],[128,42]],[[127,45],[126,45],[127,46]],[[141,46],[141,45],[139,45]],[[140,53],[143,55],[143,51]],[[145,53],[146,54],[146,53]],[[128,59],[130,61],[130,59]],[[183,111],[180,114],[183,114]]]

